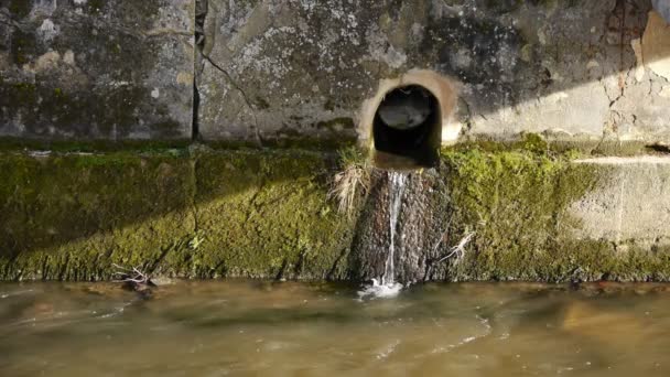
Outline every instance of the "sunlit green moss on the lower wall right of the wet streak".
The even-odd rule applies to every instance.
[[[634,240],[615,245],[575,238],[581,223],[569,206],[601,186],[607,168],[570,163],[570,155],[555,155],[534,138],[522,146],[442,152],[452,208],[450,234],[454,239],[476,235],[462,263],[443,267],[449,279],[668,279],[668,249],[649,250]]]

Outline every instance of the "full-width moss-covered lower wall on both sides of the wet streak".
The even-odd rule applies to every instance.
[[[437,170],[412,173],[447,201],[434,222],[450,224],[437,255],[475,233],[465,258],[431,266],[430,278],[670,279],[668,235],[585,233],[575,203],[606,195],[618,168],[572,159],[530,138],[444,149]],[[337,169],[333,153],[294,149],[7,149],[0,279],[108,279],[112,263],[187,278],[365,279],[352,247],[356,218],[327,197]]]

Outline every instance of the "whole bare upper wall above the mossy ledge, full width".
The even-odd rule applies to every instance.
[[[668,143],[668,3],[0,0],[0,136],[365,141],[366,100],[429,69],[445,142]]]

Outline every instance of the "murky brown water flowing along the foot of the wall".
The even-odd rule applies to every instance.
[[[0,284],[0,376],[668,376],[670,287]]]

